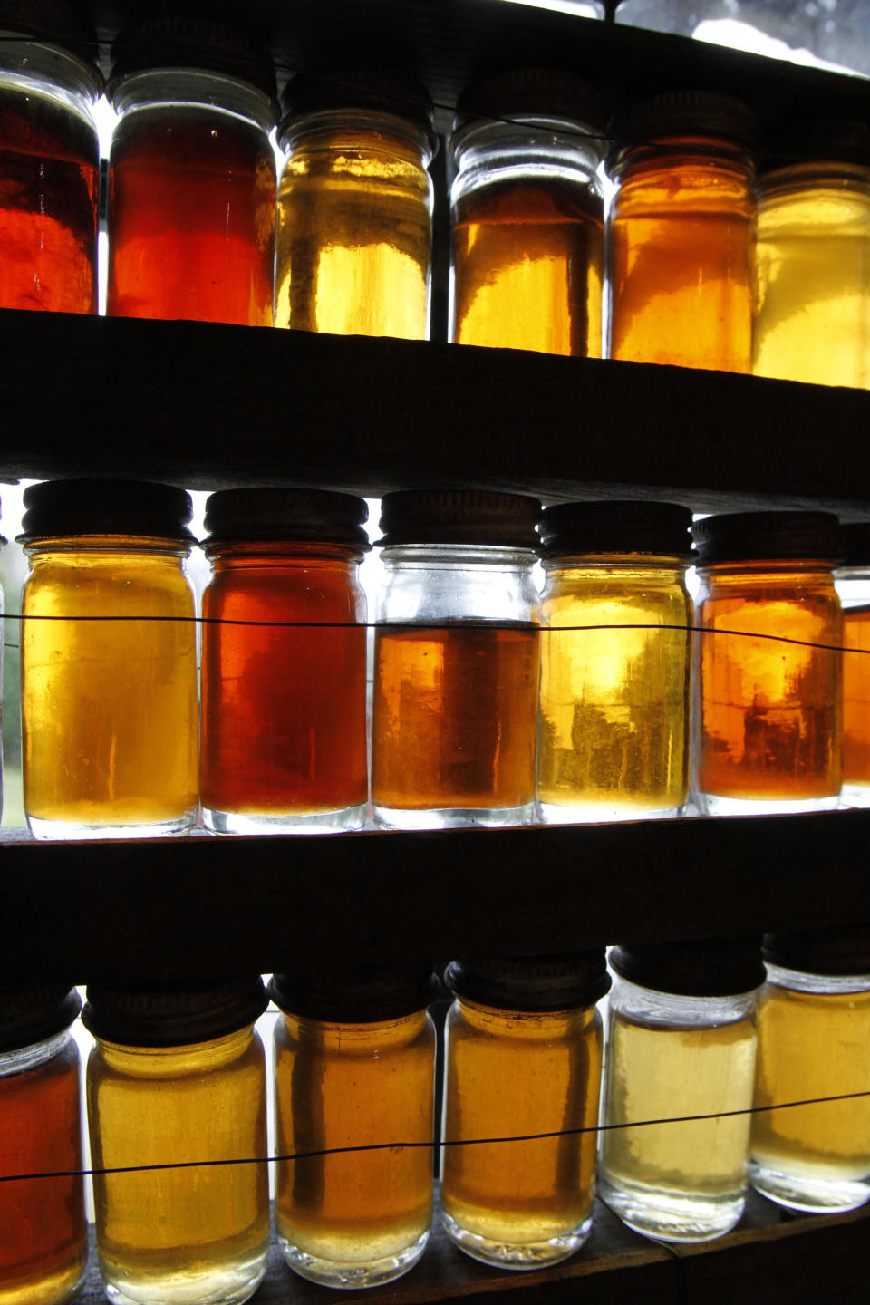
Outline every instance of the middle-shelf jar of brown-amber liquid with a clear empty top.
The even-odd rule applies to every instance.
[[[397,829],[535,812],[540,504],[484,491],[381,502],[372,804]]]

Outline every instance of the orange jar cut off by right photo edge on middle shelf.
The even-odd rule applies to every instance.
[[[870,806],[870,523],[840,527],[843,606],[841,806]]]

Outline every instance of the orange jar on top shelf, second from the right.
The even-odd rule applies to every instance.
[[[616,134],[609,356],[751,371],[750,111],[673,91],[634,106]]]

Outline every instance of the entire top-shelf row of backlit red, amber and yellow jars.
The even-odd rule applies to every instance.
[[[14,7],[33,40],[0,40],[0,307],[95,312],[102,81],[74,14],[42,9]],[[110,315],[428,337],[423,90],[291,78],[278,184],[275,72],[243,33],[137,23],[107,94]],[[562,72],[470,86],[449,138],[450,338],[867,386],[870,125],[789,121],[758,187],[753,137],[719,93],[665,91],[608,127],[595,87]]]

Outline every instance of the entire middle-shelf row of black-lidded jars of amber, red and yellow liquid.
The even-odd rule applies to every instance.
[[[184,491],[43,482],[23,502],[37,837],[181,833],[198,804],[215,833],[359,829],[369,791],[387,829],[677,816],[690,752],[708,814],[870,804],[865,525],[389,493],[369,749],[364,500],[211,495],[201,617]]]

